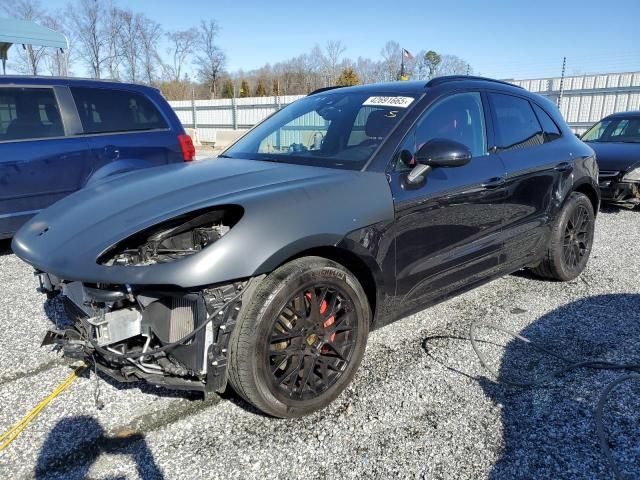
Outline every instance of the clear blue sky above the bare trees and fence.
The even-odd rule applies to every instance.
[[[49,9],[67,0],[46,0]],[[640,0],[115,0],[164,30],[213,18],[228,69],[251,70],[341,40],[345,55],[380,58],[388,40],[435,50],[496,78],[640,71]],[[164,50],[164,47],[162,48]]]

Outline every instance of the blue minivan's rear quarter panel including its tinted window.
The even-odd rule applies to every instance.
[[[71,87],[71,93],[97,160],[96,171],[107,168],[112,174],[182,160],[177,135],[142,93],[87,87]]]

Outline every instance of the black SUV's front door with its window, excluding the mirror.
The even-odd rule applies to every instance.
[[[437,100],[395,155],[389,176],[401,313],[422,308],[499,268],[506,172],[500,157],[487,150],[484,103],[478,91]],[[407,188],[413,159],[406,152],[415,154],[434,138],[463,143],[473,155],[471,161],[461,167],[434,168],[423,185]]]

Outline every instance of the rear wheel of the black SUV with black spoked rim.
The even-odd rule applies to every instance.
[[[595,214],[586,195],[573,192],[565,202],[551,231],[547,253],[532,271],[563,282],[582,273],[593,246]]]

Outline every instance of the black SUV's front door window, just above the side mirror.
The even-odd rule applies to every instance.
[[[415,153],[434,138],[460,142],[474,157],[485,155],[487,136],[480,93],[454,94],[430,106],[403,140],[396,154],[395,169],[412,168]]]

